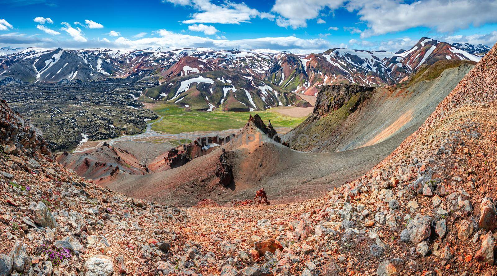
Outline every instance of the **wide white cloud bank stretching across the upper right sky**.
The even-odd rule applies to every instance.
[[[307,21],[323,10],[345,7],[356,12],[367,25],[362,38],[398,32],[414,27],[428,27],[438,32],[452,32],[469,26],[497,22],[495,0],[276,0],[272,11],[281,27],[307,27]]]

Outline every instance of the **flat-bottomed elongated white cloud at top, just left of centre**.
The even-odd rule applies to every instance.
[[[260,17],[273,19],[274,15],[267,12],[260,12],[250,8],[246,3],[234,3],[225,1],[221,5],[213,4],[210,0],[163,0],[178,5],[189,5],[199,10],[190,15],[191,19],[184,20],[185,24],[193,23],[220,23],[220,24],[240,24],[249,22],[251,18]]]

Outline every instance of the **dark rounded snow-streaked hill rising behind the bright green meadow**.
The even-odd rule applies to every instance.
[[[144,91],[143,98],[182,104],[194,110],[265,110],[275,106],[310,104],[298,95],[235,70],[209,71],[180,76]]]

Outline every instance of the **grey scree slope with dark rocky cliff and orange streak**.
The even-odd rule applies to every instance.
[[[294,149],[323,152],[364,147],[398,135],[406,138],[406,131],[424,122],[473,66],[465,61],[439,61],[400,87],[323,86],[313,114],[284,139]],[[437,77],[428,77],[432,71],[438,72]],[[319,142],[302,145],[297,140],[315,134]]]

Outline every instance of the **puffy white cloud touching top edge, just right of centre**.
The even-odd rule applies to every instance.
[[[317,18],[324,8],[331,10],[340,7],[343,0],[276,0],[272,11],[280,16],[276,24],[280,27],[307,27],[307,20]]]

